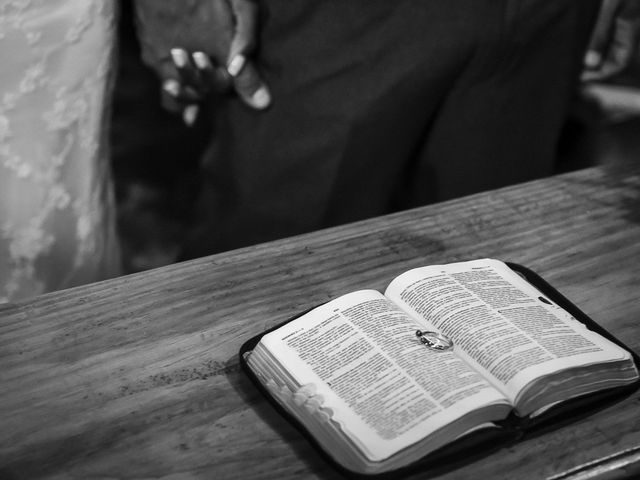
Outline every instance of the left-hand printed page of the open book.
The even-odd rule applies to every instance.
[[[366,290],[316,308],[261,343],[297,383],[316,385],[333,420],[376,460],[479,407],[508,404],[453,352],[422,345],[417,328],[381,293]]]

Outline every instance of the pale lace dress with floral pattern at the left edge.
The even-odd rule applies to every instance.
[[[113,0],[0,0],[0,302],[119,273]]]

